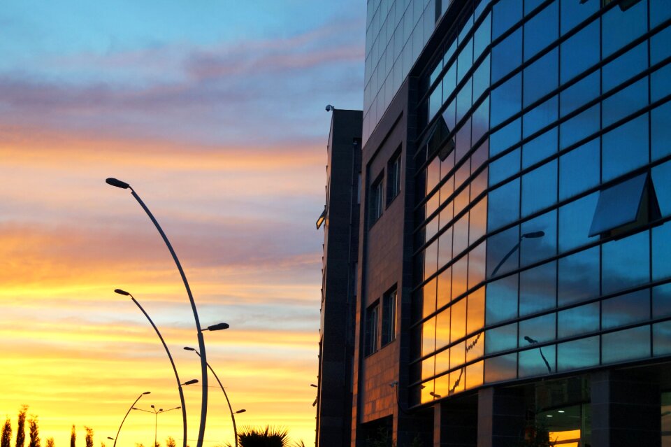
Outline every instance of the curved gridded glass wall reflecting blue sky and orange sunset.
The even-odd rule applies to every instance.
[[[424,76],[414,404],[671,355],[671,3],[604,3],[482,1]]]

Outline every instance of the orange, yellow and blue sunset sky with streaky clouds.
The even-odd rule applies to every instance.
[[[43,445],[108,447],[129,405],[180,404],[208,360],[245,425],[315,440],[326,104],[361,108],[365,2],[10,0],[0,8],[0,416],[28,404]],[[210,378],[210,385],[217,383]],[[185,388],[196,445],[201,388]],[[180,411],[158,438],[181,445]],[[151,446],[134,411],[117,446]],[[15,433],[14,433],[15,434]],[[210,388],[205,446],[232,442]]]

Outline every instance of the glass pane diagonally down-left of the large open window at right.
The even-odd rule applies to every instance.
[[[599,248],[593,247],[559,260],[559,306],[599,296]]]

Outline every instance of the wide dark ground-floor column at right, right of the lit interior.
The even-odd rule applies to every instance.
[[[592,447],[661,445],[656,379],[623,371],[591,375]]]

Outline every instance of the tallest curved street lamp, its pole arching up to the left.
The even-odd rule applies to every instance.
[[[205,435],[205,420],[207,420],[208,417],[208,366],[207,366],[207,358],[205,356],[205,339],[203,339],[203,330],[201,329],[201,322],[198,318],[198,311],[196,309],[196,301],[194,301],[194,295],[192,295],[191,293],[191,288],[189,287],[189,282],[187,281],[187,276],[184,273],[184,269],[182,269],[182,264],[180,263],[180,260],[178,259],[175,250],[173,250],[173,246],[171,246],[170,241],[168,241],[168,236],[166,236],[166,234],[163,232],[161,225],[159,225],[159,222],[156,220],[156,218],[154,218],[152,212],[149,211],[149,208],[147,208],[145,202],[143,202],[142,199],[140,199],[140,196],[138,196],[135,190],[128,183],[112,177],[107,178],[105,181],[108,185],[112,185],[114,187],[118,187],[123,190],[131,190],[131,195],[135,197],[136,201],[138,201],[138,204],[140,204],[145,213],[147,213],[147,216],[149,216],[150,220],[154,224],[154,227],[156,227],[159,234],[163,238],[163,241],[166,243],[166,246],[168,247],[170,254],[173,256],[175,265],[177,266],[177,269],[180,271],[180,276],[182,276],[182,282],[184,282],[184,287],[187,290],[187,295],[189,295],[189,302],[191,303],[191,308],[194,313],[194,320],[196,321],[196,334],[198,336],[198,347],[202,353],[201,380],[203,382],[203,394],[202,394],[203,397],[201,398],[201,423],[198,430],[198,441],[196,443],[196,447],[203,447],[203,437]],[[187,447],[186,422],[184,430],[185,430],[184,447]]]

